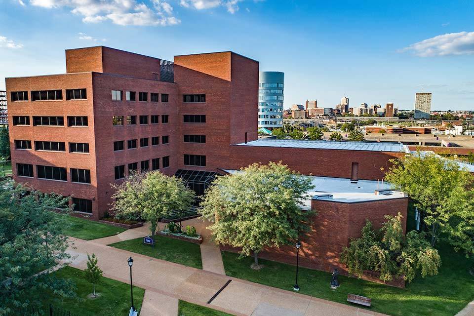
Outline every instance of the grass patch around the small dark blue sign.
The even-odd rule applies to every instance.
[[[184,240],[157,235],[155,236],[155,247],[143,244],[143,238],[120,241],[109,246],[202,269],[199,245]]]

